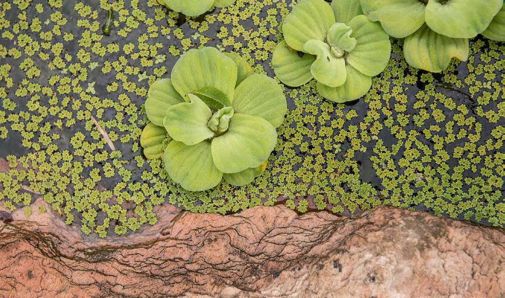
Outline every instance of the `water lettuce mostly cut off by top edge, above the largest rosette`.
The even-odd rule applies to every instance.
[[[211,7],[223,8],[232,5],[235,0],[158,0],[158,3],[189,17],[205,14]]]

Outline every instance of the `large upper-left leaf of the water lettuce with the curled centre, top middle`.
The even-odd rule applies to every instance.
[[[324,0],[303,0],[284,19],[282,32],[291,48],[305,52],[304,44],[311,39],[325,41],[334,23],[333,11]]]

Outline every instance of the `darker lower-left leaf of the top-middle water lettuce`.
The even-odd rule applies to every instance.
[[[314,79],[311,65],[316,60],[311,54],[299,56],[296,50],[287,46],[286,41],[281,41],[275,48],[272,56],[272,67],[279,80],[291,87],[298,87]]]

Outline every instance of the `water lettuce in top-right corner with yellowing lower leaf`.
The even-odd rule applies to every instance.
[[[466,61],[468,38],[483,33],[495,39],[500,35],[499,29],[503,29],[503,25],[499,26],[502,19],[498,18],[486,30],[503,0],[360,1],[369,20],[379,21],[392,37],[406,38],[403,54],[407,63],[431,72],[446,69],[452,58]]]

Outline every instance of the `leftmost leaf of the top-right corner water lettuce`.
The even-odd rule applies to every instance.
[[[419,0],[361,0],[367,18],[379,21],[387,34],[403,38],[424,24],[426,6]]]

